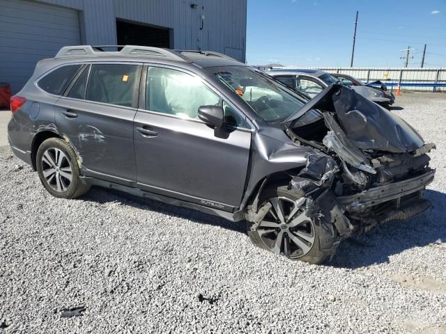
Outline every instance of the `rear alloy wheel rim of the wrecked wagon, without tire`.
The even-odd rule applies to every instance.
[[[42,174],[45,182],[55,191],[66,191],[71,184],[70,160],[59,148],[48,148],[42,154]]]

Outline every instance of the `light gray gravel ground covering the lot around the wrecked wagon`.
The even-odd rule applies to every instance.
[[[397,104],[438,145],[433,209],[345,241],[324,266],[189,209],[104,189],[53,198],[1,147],[0,333],[446,333],[446,95]]]

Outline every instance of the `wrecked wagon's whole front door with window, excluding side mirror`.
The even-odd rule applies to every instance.
[[[145,103],[134,119],[139,186],[226,211],[238,207],[252,133],[243,113],[190,72],[167,66],[143,72]],[[210,104],[223,106],[224,129],[199,120],[199,106]]]

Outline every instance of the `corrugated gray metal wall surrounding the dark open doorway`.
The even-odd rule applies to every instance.
[[[38,1],[79,10],[85,44],[115,45],[118,18],[173,29],[175,49],[218,51],[245,62],[247,0]]]

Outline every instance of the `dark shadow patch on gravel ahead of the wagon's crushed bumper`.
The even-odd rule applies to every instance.
[[[446,194],[426,190],[425,198],[432,207],[408,219],[378,226],[368,234],[347,239],[339,245],[337,254],[326,265],[355,269],[387,263],[392,255],[415,247],[446,241]]]

